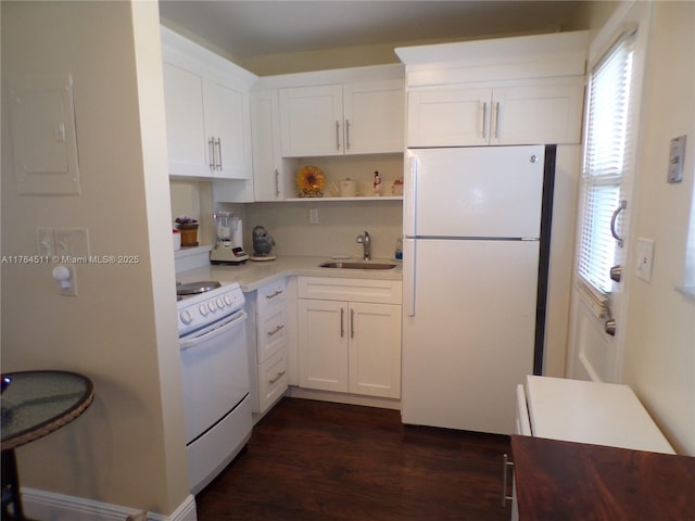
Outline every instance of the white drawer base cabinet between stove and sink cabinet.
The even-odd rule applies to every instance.
[[[268,410],[288,387],[287,285],[285,279],[247,294],[254,412]]]

